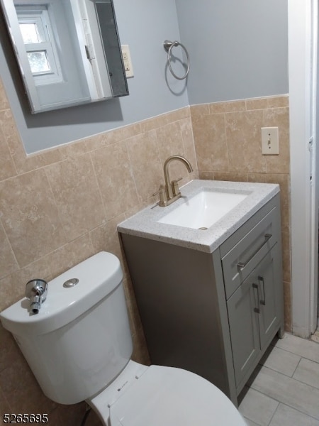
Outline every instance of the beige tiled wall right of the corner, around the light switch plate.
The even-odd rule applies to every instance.
[[[289,97],[191,107],[199,178],[279,183],[285,327],[291,331]],[[262,155],[262,127],[279,127],[279,155]]]

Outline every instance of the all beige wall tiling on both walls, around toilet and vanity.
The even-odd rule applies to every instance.
[[[259,152],[262,125],[279,126],[279,158]],[[27,157],[0,82],[0,310],[23,297],[30,278],[50,280],[98,251],[111,251],[125,268],[133,359],[147,363],[116,225],[155,201],[152,194],[163,181],[164,160],[177,153],[194,167],[187,175],[182,165],[172,165],[172,178],[183,176],[184,182],[198,178],[198,162],[201,178],[281,184],[289,329],[285,97],[186,107]],[[84,411],[84,403],[62,406],[45,398],[11,334],[0,327],[0,413],[49,413],[50,425],[72,426],[79,425]],[[87,426],[95,422],[90,415]]]

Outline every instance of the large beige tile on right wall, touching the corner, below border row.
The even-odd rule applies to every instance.
[[[228,172],[225,115],[194,116],[192,122],[198,170]]]

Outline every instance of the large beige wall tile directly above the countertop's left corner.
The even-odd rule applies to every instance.
[[[125,141],[91,152],[106,220],[140,202]]]

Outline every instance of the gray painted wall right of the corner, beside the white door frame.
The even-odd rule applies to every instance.
[[[287,0],[176,0],[190,104],[286,94]]]

